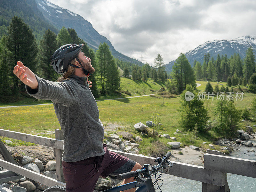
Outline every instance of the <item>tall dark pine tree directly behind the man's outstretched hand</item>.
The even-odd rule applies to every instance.
[[[36,38],[33,31],[19,17],[14,16],[8,27],[7,47],[10,50],[10,67],[14,68],[18,60],[36,73],[37,62],[36,56],[38,52]],[[25,90],[25,86],[21,85],[20,80],[16,76],[12,76],[14,88],[17,90],[19,86]]]

